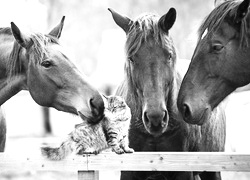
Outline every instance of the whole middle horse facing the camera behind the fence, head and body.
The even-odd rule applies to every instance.
[[[127,34],[125,76],[116,95],[131,108],[129,146],[138,151],[224,151],[225,113],[217,108],[203,126],[183,121],[177,108],[182,77],[169,30],[176,10],[143,14],[135,21],[109,9]],[[219,180],[220,172],[122,172],[121,180]]]

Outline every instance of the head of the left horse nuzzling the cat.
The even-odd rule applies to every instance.
[[[26,75],[24,88],[38,104],[97,122],[103,117],[103,99],[61,47],[59,38],[63,24],[64,17],[46,35],[26,35],[12,22],[11,30],[16,40],[13,49],[18,50],[11,54],[14,68],[10,74]]]

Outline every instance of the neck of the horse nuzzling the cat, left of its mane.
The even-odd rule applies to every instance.
[[[8,77],[8,61],[13,49],[14,38],[12,35],[0,34],[0,106],[12,96],[17,94],[26,82],[24,75]]]

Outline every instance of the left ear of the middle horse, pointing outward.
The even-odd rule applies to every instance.
[[[126,16],[122,16],[122,15],[118,14],[113,9],[108,8],[108,10],[111,12],[115,23],[118,26],[120,26],[127,34],[129,32],[131,25],[133,24],[133,21]]]

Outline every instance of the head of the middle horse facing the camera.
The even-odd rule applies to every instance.
[[[176,91],[173,87],[176,53],[169,36],[176,11],[171,8],[161,18],[146,14],[132,21],[109,10],[116,24],[127,34],[125,71],[128,93],[139,108],[139,119],[147,132],[153,136],[161,135],[167,129],[168,108],[173,103],[173,90]]]

